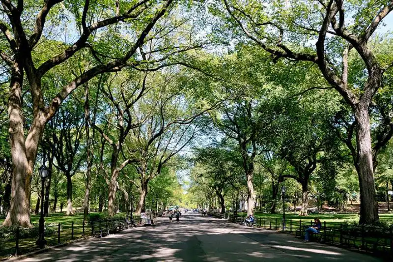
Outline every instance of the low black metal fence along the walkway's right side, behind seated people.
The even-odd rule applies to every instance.
[[[230,213],[219,214],[218,217],[235,223],[241,223],[245,219],[240,216],[234,217]],[[256,217],[254,226],[292,233],[302,238],[305,230],[312,224],[313,220],[308,219],[286,219],[284,221],[277,217]],[[389,228],[366,225],[352,226],[345,223],[323,221],[320,232],[311,234],[311,237],[322,243],[393,258],[393,226]]]

